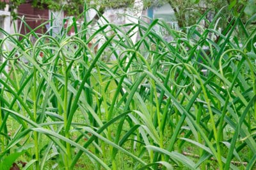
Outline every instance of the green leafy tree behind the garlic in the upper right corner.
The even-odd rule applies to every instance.
[[[243,19],[247,20],[248,17],[252,17],[256,13],[255,0],[165,0],[160,2],[162,4],[169,3],[172,6],[179,27],[195,24],[195,22],[207,11],[209,11],[207,13],[207,19],[210,19],[210,15],[214,15],[214,13],[217,13],[218,10],[225,6],[226,8],[223,8],[222,15],[226,19],[230,19],[234,15],[238,16],[241,13],[243,14]]]

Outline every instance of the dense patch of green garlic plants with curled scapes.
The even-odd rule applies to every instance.
[[[253,169],[256,29],[222,10],[180,31],[84,13],[61,36],[1,29],[0,169]]]

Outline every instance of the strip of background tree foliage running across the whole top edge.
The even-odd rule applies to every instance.
[[[227,17],[231,20],[234,15],[239,15],[239,13],[244,13],[245,15],[241,17],[243,21],[246,21],[248,17],[252,17],[256,13],[256,1],[255,0],[222,0],[222,1],[212,1],[212,0],[141,0],[143,2],[143,8],[147,9],[150,7],[157,8],[163,4],[169,3],[175,11],[175,16],[179,27],[191,26],[201,17],[202,14],[207,12],[207,19],[211,18],[211,15],[220,10],[223,6],[228,6],[222,10],[221,15]],[[134,7],[134,0],[10,0],[10,1],[0,1],[0,9],[9,5],[9,11],[12,13],[13,19],[17,19],[17,8],[20,4],[31,3],[33,8],[38,9],[49,9],[53,11],[64,10],[67,15],[79,15],[83,12],[84,2],[90,8],[97,8],[100,13],[108,8],[127,8]],[[232,12],[230,12],[232,10]],[[253,17],[252,17],[253,18]],[[254,17],[255,18],[255,17]],[[254,19],[255,21],[255,19]],[[226,22],[219,25],[221,28],[226,27]],[[207,24],[205,24],[207,27]]]

